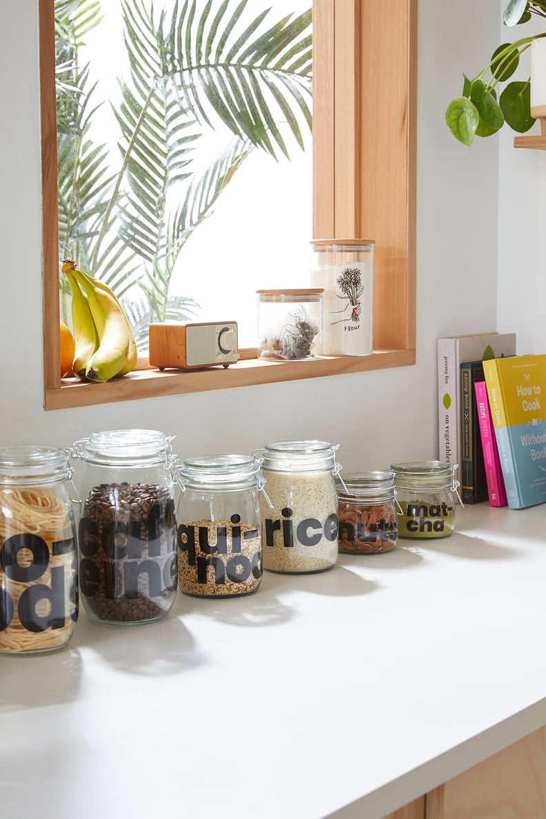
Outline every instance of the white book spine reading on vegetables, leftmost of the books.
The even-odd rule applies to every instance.
[[[460,462],[458,418],[458,354],[457,339],[440,338],[438,357],[438,457],[455,466]],[[460,480],[460,469],[455,477]]]

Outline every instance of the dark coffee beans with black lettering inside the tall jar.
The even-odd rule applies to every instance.
[[[163,486],[94,486],[79,522],[80,586],[106,621],[154,619],[176,591],[174,500]]]

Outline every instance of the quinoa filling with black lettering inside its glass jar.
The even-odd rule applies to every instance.
[[[259,530],[229,520],[178,524],[178,584],[189,595],[245,595],[262,577]]]

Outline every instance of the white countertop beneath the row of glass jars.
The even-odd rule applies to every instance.
[[[546,724],[546,505],[0,658],[2,819],[377,819]]]

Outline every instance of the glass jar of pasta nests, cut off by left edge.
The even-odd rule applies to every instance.
[[[0,449],[0,654],[49,654],[78,619],[77,551],[64,450]]]

